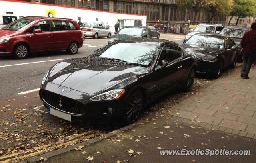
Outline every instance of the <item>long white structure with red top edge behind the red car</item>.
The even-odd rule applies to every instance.
[[[114,32],[114,25],[120,22],[124,26],[146,26],[146,15],[123,14],[107,11],[42,4],[16,0],[0,0],[0,28],[24,16],[46,16],[56,18],[70,18],[81,22],[108,23],[110,31]]]

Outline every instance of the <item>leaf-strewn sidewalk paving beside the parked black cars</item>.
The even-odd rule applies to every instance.
[[[251,70],[250,79],[241,79],[239,70],[226,73],[197,96],[157,112],[154,117],[85,142],[82,151],[71,150],[44,162],[256,163],[256,69]],[[111,136],[113,133],[117,134]],[[251,153],[212,157],[160,155],[160,149],[182,148],[251,150]],[[129,149],[134,151],[133,156],[129,156]],[[47,158],[54,153],[40,157]],[[89,156],[94,159],[86,160]]]

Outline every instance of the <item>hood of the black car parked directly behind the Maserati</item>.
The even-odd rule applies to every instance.
[[[198,58],[217,56],[224,51],[223,49],[204,48],[196,45],[182,44],[182,47],[187,53],[193,54]]]

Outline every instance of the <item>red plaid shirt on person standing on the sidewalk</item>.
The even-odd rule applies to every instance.
[[[256,52],[256,30],[251,29],[244,33],[241,46],[246,52]]]

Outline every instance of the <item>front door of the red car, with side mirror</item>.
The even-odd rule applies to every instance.
[[[53,32],[51,31],[49,20],[42,20],[30,27],[24,35],[28,40],[31,51],[45,51],[53,49]],[[35,33],[35,29],[41,29],[40,33]]]

